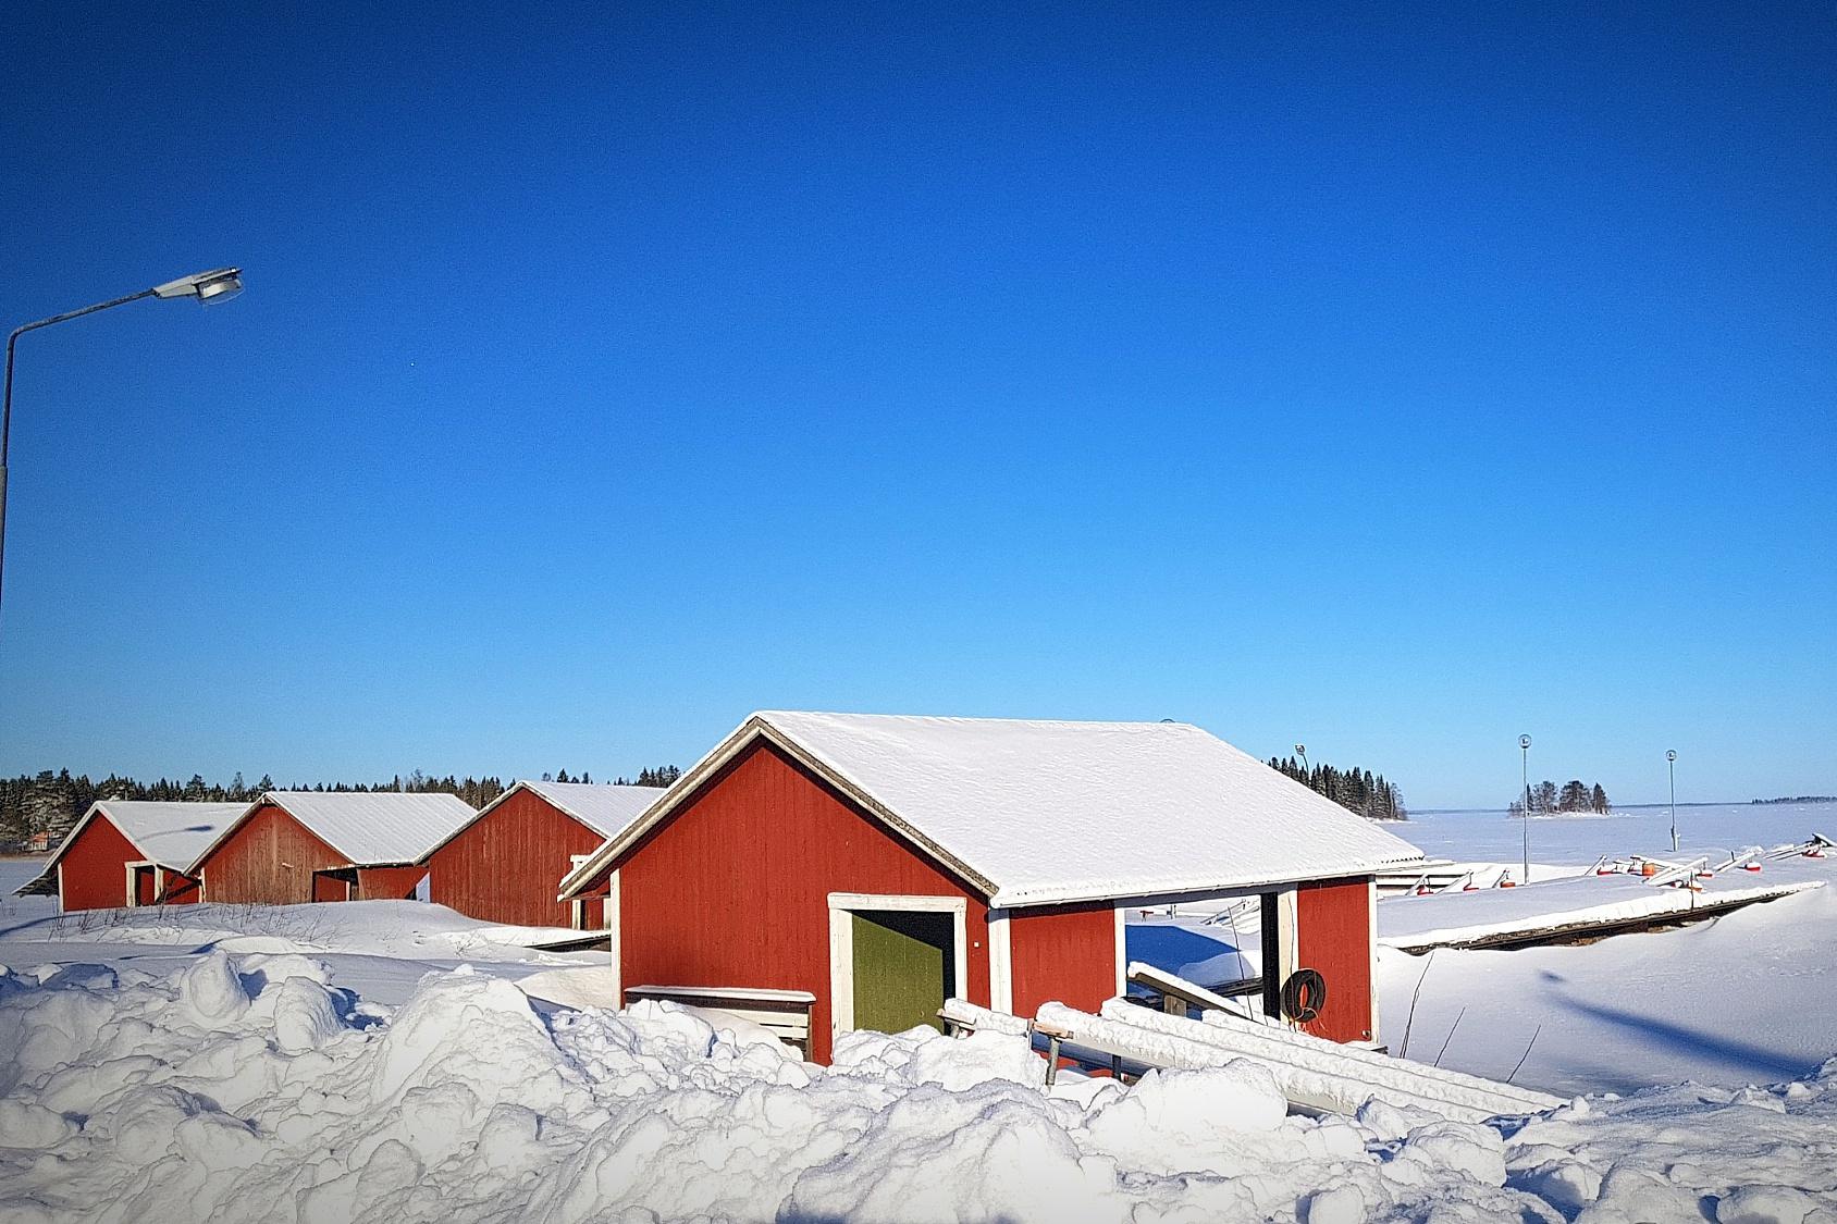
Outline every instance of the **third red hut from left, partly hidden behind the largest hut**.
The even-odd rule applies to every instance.
[[[663,787],[520,781],[423,856],[428,899],[487,923],[604,926],[604,895],[557,901],[577,862],[625,833]]]

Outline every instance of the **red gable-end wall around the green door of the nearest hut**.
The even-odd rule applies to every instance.
[[[968,901],[970,1000],[988,1003],[988,908],[821,779],[755,742],[619,867],[619,969],[632,985],[810,991],[828,1062],[828,893]]]

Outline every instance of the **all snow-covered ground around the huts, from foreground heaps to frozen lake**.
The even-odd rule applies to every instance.
[[[1696,844],[1837,831],[1831,805],[1721,812]],[[1650,812],[1534,822],[1534,853],[1572,869],[1666,851],[1661,820],[1659,844]],[[1506,862],[1495,825],[1517,833],[1449,816],[1405,834]],[[0,886],[31,869],[0,860]],[[1819,888],[1587,946],[1383,952],[1392,1051],[1578,1097],[1466,1125],[1288,1117],[1245,1062],[1047,1092],[996,1033],[860,1035],[814,1068],[711,1014],[562,1007],[595,996],[603,954],[417,902],[59,919],[7,897],[0,1222],[1837,1224],[1831,930],[1837,888]],[[1242,923],[1128,934],[1176,970],[1255,969]]]

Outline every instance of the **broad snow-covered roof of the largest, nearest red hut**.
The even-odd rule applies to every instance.
[[[1420,851],[1185,722],[764,711],[568,875],[588,882],[766,739],[997,906],[1369,875]]]

